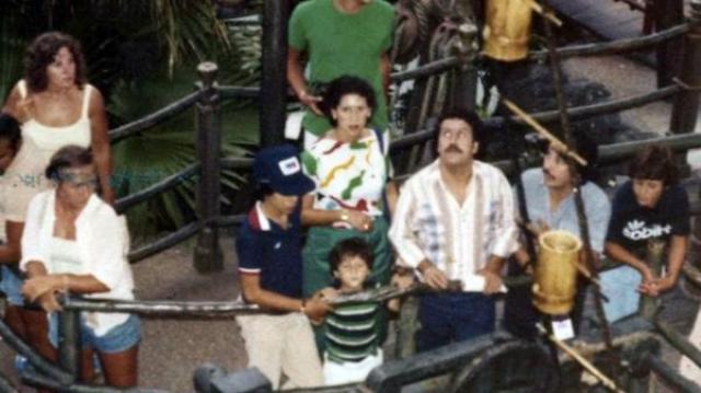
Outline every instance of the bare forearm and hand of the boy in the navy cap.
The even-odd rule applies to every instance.
[[[241,290],[245,300],[263,309],[290,312],[301,311],[312,321],[322,320],[331,310],[331,307],[318,297],[303,301],[265,290],[261,288],[261,276],[258,275],[242,274],[240,279]]]

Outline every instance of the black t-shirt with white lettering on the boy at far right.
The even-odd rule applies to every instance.
[[[689,232],[689,197],[682,187],[665,188],[652,209],[637,204],[630,181],[616,192],[607,241],[633,250],[645,246],[651,239],[668,241],[671,235],[686,236]]]

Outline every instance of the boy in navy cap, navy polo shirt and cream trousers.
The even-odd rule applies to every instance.
[[[314,188],[289,145],[262,150],[253,161],[256,204],[237,238],[239,279],[245,301],[266,314],[237,317],[249,354],[277,390],[323,383],[321,361],[309,324],[323,320],[330,305],[315,296],[302,299],[299,198]]]

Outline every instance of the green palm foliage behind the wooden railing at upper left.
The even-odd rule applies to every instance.
[[[220,84],[250,85],[260,78],[255,62],[260,32],[244,32],[232,43],[232,33],[216,19],[211,1],[1,0],[0,9],[3,97],[21,78],[26,45],[43,32],[62,31],[81,42],[89,80],[106,97],[112,127],[191,93],[200,61],[219,63]],[[257,143],[257,111],[250,104],[221,105],[222,155],[242,155],[245,150],[239,146]],[[113,146],[119,196],[143,189],[195,161],[194,111]],[[222,195],[231,195],[240,181],[225,173]],[[130,209],[131,228],[148,234],[194,219],[195,185],[196,178]]]

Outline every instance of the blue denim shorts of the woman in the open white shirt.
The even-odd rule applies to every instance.
[[[104,354],[117,354],[139,344],[141,321],[136,315],[129,315],[128,320],[111,328],[104,336],[96,336],[95,332],[81,317],[80,334],[83,349],[93,348]],[[53,313],[49,316],[48,337],[51,345],[58,348],[58,313]]]

